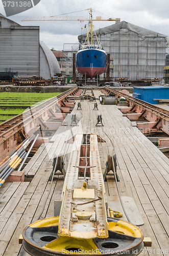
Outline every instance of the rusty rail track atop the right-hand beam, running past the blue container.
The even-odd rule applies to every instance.
[[[145,102],[143,100],[140,100],[140,99],[136,99],[130,95],[127,95],[125,93],[122,93],[122,92],[118,92],[117,90],[114,90],[114,89],[111,89],[109,87],[105,87],[104,90],[107,90],[109,92],[113,92],[115,93],[116,95],[119,95],[119,96],[123,96],[125,97],[128,101],[132,101],[133,102],[133,105],[136,104],[136,105],[139,105],[141,106],[142,109],[145,109],[159,117],[161,117],[162,119],[165,119],[166,121],[169,121],[169,112],[166,111],[166,110],[163,110],[161,108],[158,108],[157,106],[154,106],[153,104],[151,103],[148,103],[148,102]],[[165,114],[165,113],[167,114]]]

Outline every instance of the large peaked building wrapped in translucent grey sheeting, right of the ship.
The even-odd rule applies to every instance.
[[[166,35],[125,21],[95,32],[106,53],[110,53],[110,77],[128,80],[158,77],[162,82]],[[86,34],[78,39],[84,42]],[[93,41],[96,43],[95,37]]]

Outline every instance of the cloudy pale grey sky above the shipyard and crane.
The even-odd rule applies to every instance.
[[[19,1],[19,0],[18,0]],[[32,1],[32,0],[30,0]],[[4,16],[4,0],[0,0],[0,13]],[[42,16],[84,16],[89,18],[89,11],[93,9],[93,18],[120,18],[121,21],[153,30],[155,32],[169,36],[169,1],[168,0],[41,0],[33,8],[9,16],[22,26],[39,26],[40,40],[47,47],[55,50],[67,48],[66,44],[78,43],[78,35],[85,33],[86,22],[79,21],[41,21],[41,22],[21,22],[25,17]],[[94,29],[110,26],[115,22],[94,22]]]

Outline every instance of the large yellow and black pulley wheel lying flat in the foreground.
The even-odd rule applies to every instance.
[[[23,230],[22,246],[33,256],[138,255],[143,248],[142,231],[125,221],[114,218],[107,220],[109,237],[104,239],[58,237],[59,217],[40,220]]]

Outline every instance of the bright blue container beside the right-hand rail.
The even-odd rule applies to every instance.
[[[137,94],[140,94],[139,98],[143,101],[149,102],[151,104],[158,104],[157,99],[169,99],[169,87],[165,87],[165,86],[134,87],[134,95],[136,96]]]

